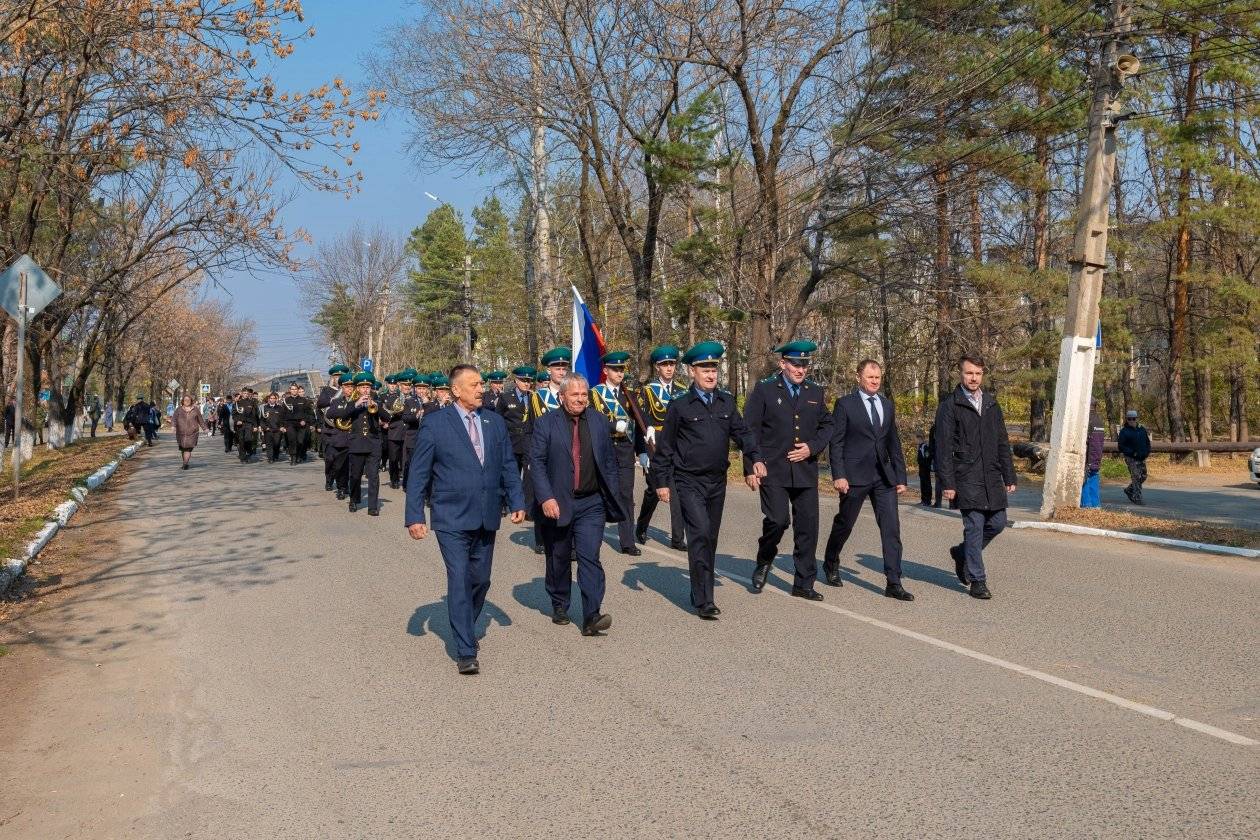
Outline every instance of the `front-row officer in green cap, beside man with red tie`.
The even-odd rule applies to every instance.
[[[690,368],[692,387],[670,400],[654,458],[662,474],[656,495],[669,501],[677,494],[683,509],[692,606],[706,620],[721,613],[713,603],[713,564],[722,530],[731,442],[751,461],[755,479],[766,476],[757,440],[740,416],[735,397],[717,387],[722,354],[719,341],[701,341],[683,355],[683,364]],[[756,487],[756,481],[750,485]]]

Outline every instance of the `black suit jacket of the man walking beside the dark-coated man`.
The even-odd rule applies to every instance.
[[[897,434],[897,414],[892,400],[876,394],[883,408],[879,428],[871,423],[871,406],[854,390],[835,400],[832,409],[832,477],[852,485],[874,484],[883,479],[891,485],[906,484],[906,457]]]

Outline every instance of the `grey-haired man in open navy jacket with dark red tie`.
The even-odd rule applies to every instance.
[[[547,594],[552,622],[567,625],[573,574],[570,558],[577,554],[577,586],[582,591],[582,635],[598,636],[612,626],[600,612],[604,602],[604,567],[600,545],[604,523],[626,518],[620,502],[621,476],[607,418],[591,408],[591,385],[580,373],[566,374],[557,397],[561,411],[534,421],[529,474],[534,482],[547,550]],[[542,514],[542,515],[539,515]]]

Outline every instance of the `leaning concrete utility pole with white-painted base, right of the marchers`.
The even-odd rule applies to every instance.
[[[1050,457],[1042,489],[1041,515],[1052,519],[1060,509],[1079,508],[1085,480],[1085,440],[1094,392],[1094,364],[1099,298],[1106,272],[1106,233],[1115,175],[1115,127],[1125,77],[1138,72],[1138,59],[1126,53],[1131,30],[1131,0],[1111,0],[1105,40],[1094,67],[1094,101],[1085,156],[1085,186],[1076,210],[1076,234],[1070,258],[1067,317],[1058,350]]]

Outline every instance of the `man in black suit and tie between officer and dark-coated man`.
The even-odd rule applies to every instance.
[[[901,586],[901,523],[897,496],[906,492],[906,458],[901,453],[892,400],[879,393],[883,368],[874,359],[858,364],[858,389],[835,400],[832,411],[832,479],[840,494],[840,510],[823,554],[827,582],[840,586],[840,552],[871,499],[883,547],[883,594],[898,601],[915,596]]]

